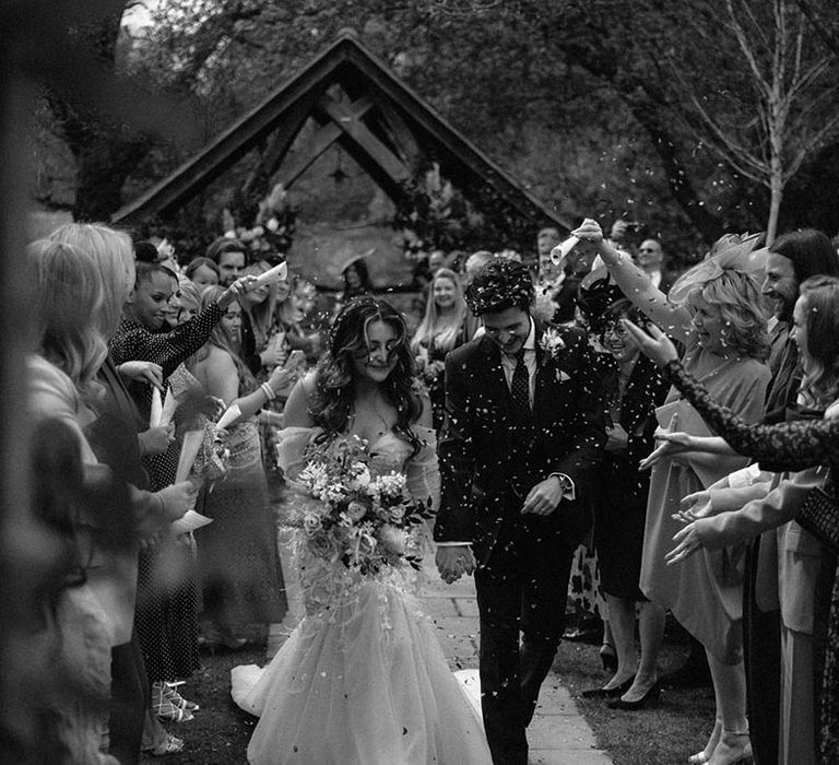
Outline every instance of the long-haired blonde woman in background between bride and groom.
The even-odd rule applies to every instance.
[[[442,427],[444,362],[449,351],[462,345],[465,338],[466,302],[457,274],[439,269],[432,280],[425,315],[411,340],[411,352],[432,399],[434,429]]]

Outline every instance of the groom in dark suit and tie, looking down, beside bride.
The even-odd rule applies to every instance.
[[[563,634],[571,556],[590,526],[579,501],[606,440],[583,332],[543,331],[530,316],[533,295],[524,266],[492,260],[466,290],[485,333],[446,360],[437,567],[448,582],[475,572],[495,765],[527,765],[524,730]]]

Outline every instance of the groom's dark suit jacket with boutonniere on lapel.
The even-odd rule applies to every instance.
[[[564,346],[548,353],[536,328],[531,425],[515,420],[501,352],[489,338],[461,345],[446,360],[442,498],[434,536],[471,542],[478,563],[487,562],[503,521],[520,514],[524,497],[516,486],[527,492],[552,473],[574,481],[578,501],[563,499],[544,519],[545,531],[579,539],[590,523],[586,497],[606,440],[602,391],[584,333],[553,331]]]

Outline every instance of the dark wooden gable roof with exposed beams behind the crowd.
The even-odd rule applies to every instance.
[[[318,130],[284,163],[309,118]],[[342,32],[262,104],[123,205],[111,222],[172,214],[256,148],[261,151],[260,165],[247,183],[262,177],[289,188],[335,142],[395,202],[404,198],[417,170],[435,162],[440,175],[478,210],[492,198],[534,228],[570,228],[394,76],[352,31]]]

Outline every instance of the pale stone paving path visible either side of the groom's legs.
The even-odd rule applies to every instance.
[[[477,602],[471,577],[453,585],[440,580],[426,564],[424,605],[439,628],[439,639],[452,670],[477,668]],[[532,765],[611,765],[559,676],[548,674],[528,728]]]

